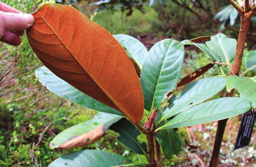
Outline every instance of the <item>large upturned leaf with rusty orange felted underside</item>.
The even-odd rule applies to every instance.
[[[132,122],[142,119],[139,78],[124,48],[106,29],[71,6],[47,3],[32,15],[35,23],[27,38],[49,70]]]

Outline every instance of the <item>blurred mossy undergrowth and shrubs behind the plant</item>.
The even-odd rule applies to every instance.
[[[55,0],[2,0],[1,2],[24,13],[31,13],[41,4],[55,3]],[[130,2],[128,5],[120,0],[111,0],[105,4],[93,0],[79,2],[58,0],[57,2],[71,4],[88,17],[97,11],[98,13],[93,16],[95,22],[112,34],[125,33],[135,36],[148,49],[155,42],[165,38],[181,41],[219,33],[222,22],[213,17],[221,7],[227,5],[223,0],[196,2],[170,0],[166,3],[156,1],[154,6],[149,6],[150,2],[146,0],[143,2],[128,0],[127,2]],[[239,19],[235,20],[233,26],[227,22],[221,32],[237,38],[237,28],[239,28]],[[256,47],[253,42],[256,37],[253,30],[255,23],[250,28],[247,50]],[[181,77],[208,64],[209,61],[198,49],[189,48],[186,50],[184,63]],[[46,90],[35,77],[35,69],[40,66],[42,64],[32,53],[25,36],[19,47],[0,43],[0,166],[46,166],[61,155],[82,149],[107,150],[127,156],[132,161],[138,158],[139,162],[146,161],[144,156],[131,153],[118,142],[118,135],[113,131],[109,131],[105,138],[84,148],[50,150],[49,142],[55,134],[72,125],[92,119],[97,112],[63,100]],[[218,68],[214,67],[202,77],[218,74]],[[248,75],[254,76],[255,73],[249,72]],[[223,93],[217,96],[221,97]],[[229,133],[224,136],[224,149],[221,150],[223,164],[243,166],[256,162],[256,150],[253,144],[249,148],[231,151],[238,126],[238,118],[233,118],[227,123]],[[171,160],[165,160],[164,165],[205,165],[204,162],[209,161],[215,132],[216,122],[179,128],[178,134],[183,139],[181,156],[178,158],[173,156]],[[138,140],[143,142],[146,139],[139,137]],[[253,136],[252,143],[255,142],[256,137]],[[189,149],[187,146],[189,144],[198,146],[198,149]]]

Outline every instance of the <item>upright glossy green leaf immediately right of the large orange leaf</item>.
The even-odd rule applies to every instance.
[[[149,51],[141,71],[145,109],[160,107],[177,85],[184,61],[184,46],[174,39],[157,42]]]

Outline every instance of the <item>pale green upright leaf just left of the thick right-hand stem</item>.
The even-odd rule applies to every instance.
[[[223,33],[219,33],[215,36],[211,36],[211,40],[205,43],[221,57],[221,61],[230,64],[234,59],[236,53],[236,39],[228,38]]]

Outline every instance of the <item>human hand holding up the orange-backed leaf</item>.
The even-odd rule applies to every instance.
[[[18,46],[24,30],[31,27],[35,19],[31,14],[21,11],[0,2],[0,41]]]

